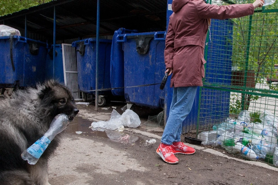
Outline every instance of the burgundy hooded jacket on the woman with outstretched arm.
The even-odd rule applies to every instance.
[[[202,86],[208,19],[237,18],[254,13],[253,4],[218,6],[203,0],[173,0],[165,40],[164,61],[173,68],[171,87]]]

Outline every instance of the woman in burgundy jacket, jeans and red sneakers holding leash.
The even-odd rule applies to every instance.
[[[171,77],[173,99],[169,117],[156,153],[170,164],[179,162],[175,153],[193,154],[195,149],[180,141],[182,122],[190,113],[197,86],[202,86],[204,77],[204,45],[210,19],[238,18],[252,15],[262,7],[264,0],[253,4],[218,6],[203,0],[173,0],[165,40],[164,60],[166,72]]]

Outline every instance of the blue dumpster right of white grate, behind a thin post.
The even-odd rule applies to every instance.
[[[99,40],[98,89],[111,88],[110,54],[112,40]],[[72,43],[76,47],[78,86],[81,91],[95,94],[96,89],[96,39],[87,38]],[[99,95],[111,95],[111,90],[99,91]]]

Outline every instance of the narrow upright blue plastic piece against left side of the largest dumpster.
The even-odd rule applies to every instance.
[[[110,58],[110,80],[112,94],[114,96],[124,96],[124,51],[122,50],[122,42],[117,42],[117,36],[120,34],[137,33],[137,30],[129,30],[120,28],[114,32],[111,45]]]

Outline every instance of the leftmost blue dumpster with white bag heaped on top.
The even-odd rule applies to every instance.
[[[45,79],[47,44],[21,36],[0,37],[0,88],[35,86]]]

